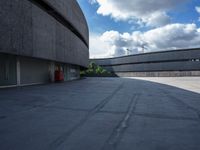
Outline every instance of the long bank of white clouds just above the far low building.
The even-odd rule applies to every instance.
[[[91,37],[93,40],[93,37]],[[103,56],[116,57],[158,50],[200,47],[200,28],[195,24],[170,24],[146,32],[119,33],[107,31],[96,36],[91,52],[103,50]],[[90,43],[92,43],[92,40]]]

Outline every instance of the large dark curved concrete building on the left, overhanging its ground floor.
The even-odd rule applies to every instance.
[[[79,78],[89,61],[86,19],[75,0],[0,1],[0,86]]]

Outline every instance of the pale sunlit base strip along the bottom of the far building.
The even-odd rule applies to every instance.
[[[119,77],[184,77],[200,76],[200,71],[115,72]]]

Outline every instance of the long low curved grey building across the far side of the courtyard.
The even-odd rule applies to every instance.
[[[200,49],[91,59],[118,76],[200,76]]]

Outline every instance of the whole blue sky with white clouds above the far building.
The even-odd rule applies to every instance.
[[[77,1],[90,30],[91,58],[200,47],[199,0]]]

